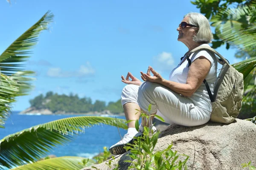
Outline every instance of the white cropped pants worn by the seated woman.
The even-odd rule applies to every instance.
[[[195,106],[188,97],[149,81],[140,86],[126,85],[122,90],[121,103],[122,106],[126,103],[136,103],[145,112],[148,112],[148,106],[151,104],[149,114],[157,112],[157,115],[169,124],[198,126],[207,123],[211,116],[208,110]]]

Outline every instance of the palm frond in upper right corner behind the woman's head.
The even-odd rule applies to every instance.
[[[237,9],[222,9],[212,17],[212,26],[216,26],[216,34],[221,40],[240,49],[255,47],[256,24],[251,23],[256,11],[255,6],[239,6]],[[224,18],[223,16],[228,16]]]

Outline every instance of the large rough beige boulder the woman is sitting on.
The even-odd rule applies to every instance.
[[[173,142],[172,150],[186,154],[188,170],[240,170],[241,164],[251,161],[256,165],[256,125],[236,119],[231,124],[208,122],[197,127],[176,124],[164,130],[155,146],[156,151],[166,149]],[[112,164],[127,170],[127,153],[116,156]],[[110,170],[106,162],[93,165],[100,170]],[[85,167],[82,170],[94,170]]]

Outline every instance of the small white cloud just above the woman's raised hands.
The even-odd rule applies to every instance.
[[[172,53],[162,52],[153,57],[153,66],[160,71],[171,71],[174,68],[174,59],[172,58]]]

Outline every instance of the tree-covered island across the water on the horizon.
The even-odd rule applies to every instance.
[[[96,100],[94,103],[91,98],[79,98],[73,95],[59,95],[58,93],[47,92],[46,95],[40,94],[29,101],[30,107],[19,114],[26,115],[124,115],[119,99],[116,102]]]

